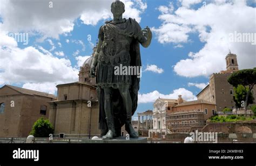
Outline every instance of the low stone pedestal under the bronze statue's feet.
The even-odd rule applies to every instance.
[[[130,140],[126,140],[125,136],[119,136],[114,138],[113,140],[83,140],[82,143],[147,143],[147,138],[139,137],[139,138],[130,138]]]

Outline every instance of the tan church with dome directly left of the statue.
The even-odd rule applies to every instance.
[[[49,119],[60,138],[87,138],[100,134],[95,78],[90,78],[92,57],[80,67],[79,81],[57,85],[57,100],[49,102]]]

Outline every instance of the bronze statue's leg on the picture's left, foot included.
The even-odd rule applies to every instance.
[[[115,131],[114,131],[114,117],[113,117],[113,110],[111,106],[111,95],[112,95],[112,89],[111,88],[104,88],[104,110],[106,113],[106,121],[107,121],[107,127],[109,128],[109,131],[102,137],[104,140],[112,140]]]

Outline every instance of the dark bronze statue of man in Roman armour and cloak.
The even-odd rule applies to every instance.
[[[139,44],[149,47],[152,32],[149,27],[142,30],[135,19],[123,18],[123,2],[111,4],[113,20],[99,29],[97,50],[91,63],[90,76],[96,76],[99,100],[99,129],[103,139],[121,135],[121,127],[131,138],[137,138],[131,124],[137,109],[140,78],[129,73],[114,74],[115,67],[141,67]],[[97,73],[96,73],[97,72]]]

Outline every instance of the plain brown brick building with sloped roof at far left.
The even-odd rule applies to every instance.
[[[39,118],[49,117],[49,103],[56,96],[4,85],[0,88],[0,137],[26,137]]]

